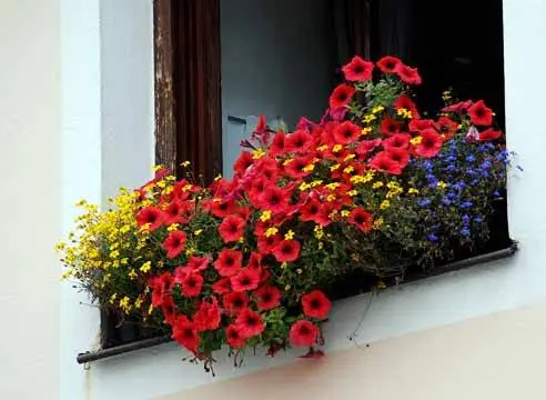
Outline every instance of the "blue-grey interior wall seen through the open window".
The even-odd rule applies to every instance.
[[[265,114],[293,128],[318,120],[334,83],[333,30],[325,0],[222,0],[224,172],[254,128],[228,121]]]

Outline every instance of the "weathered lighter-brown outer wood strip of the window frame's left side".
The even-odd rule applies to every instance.
[[[172,0],[153,0],[155,163],[176,171]]]

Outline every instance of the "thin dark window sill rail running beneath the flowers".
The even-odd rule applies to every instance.
[[[517,249],[518,249],[517,242],[513,242],[509,247],[507,247],[505,249],[493,251],[493,252],[481,254],[481,256],[476,256],[476,257],[472,257],[472,258],[468,258],[465,260],[447,263],[447,264],[441,266],[438,268],[435,268],[432,273],[423,273],[421,276],[413,276],[407,281],[416,281],[419,279],[424,279],[424,278],[428,278],[428,277],[433,277],[433,276],[438,276],[438,274],[446,273],[449,271],[461,270],[464,268],[468,268],[468,267],[473,267],[473,266],[477,266],[477,264],[482,264],[482,263],[486,263],[486,262],[491,262],[491,261],[495,261],[495,260],[509,258],[509,257],[514,256],[514,253],[517,251]],[[88,363],[88,362],[92,362],[92,361],[98,361],[98,360],[129,353],[132,351],[155,347],[155,346],[168,343],[171,341],[172,341],[172,338],[170,336],[161,336],[161,337],[145,339],[145,340],[138,340],[138,341],[134,341],[131,343],[121,344],[121,346],[117,346],[117,347],[112,347],[112,348],[108,348],[108,349],[103,349],[103,350],[87,351],[87,352],[78,354],[77,362],[78,363]]]

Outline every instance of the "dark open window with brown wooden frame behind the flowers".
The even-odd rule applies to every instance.
[[[154,13],[158,163],[180,172],[190,160],[205,182],[229,173],[253,117],[289,129],[300,116],[320,119],[336,68],[355,53],[418,66],[423,110],[453,86],[461,98],[483,98],[504,128],[502,0],[155,0]],[[481,253],[512,244],[506,201],[491,223]],[[335,294],[370,284],[353,277]],[[105,347],[158,334],[118,322],[103,318]]]

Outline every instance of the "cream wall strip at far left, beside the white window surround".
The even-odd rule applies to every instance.
[[[59,1],[0,1],[0,399],[59,398]]]

